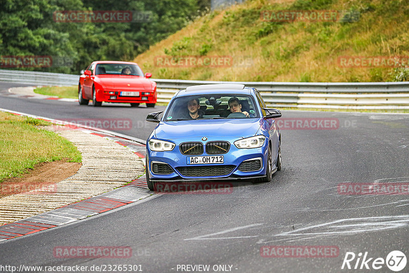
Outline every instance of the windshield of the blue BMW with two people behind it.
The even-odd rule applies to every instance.
[[[243,94],[178,97],[164,116],[165,121],[248,118],[259,118],[259,113],[253,97]]]

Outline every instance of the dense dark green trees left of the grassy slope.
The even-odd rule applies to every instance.
[[[0,0],[0,55],[49,55],[54,67],[22,67],[78,73],[94,60],[132,60],[196,18],[208,0]],[[202,9],[201,10],[199,10]],[[56,22],[55,11],[151,12],[147,22]]]

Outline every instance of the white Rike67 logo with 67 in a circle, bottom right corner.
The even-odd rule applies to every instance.
[[[368,257],[368,252],[365,252],[363,257],[362,253],[355,255],[353,252],[347,252],[341,269],[381,269],[385,265],[392,271],[401,271],[406,266],[406,255],[401,251],[391,251],[386,259],[375,259]]]

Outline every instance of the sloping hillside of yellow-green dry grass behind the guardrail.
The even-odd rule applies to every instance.
[[[279,10],[343,15],[336,22],[271,22],[260,16]],[[349,20],[351,14],[358,19]],[[340,56],[409,56],[408,29],[409,0],[254,0],[197,19],[135,61],[153,78],[167,79],[367,82],[393,81],[400,74],[399,80],[409,80],[403,68],[338,64]],[[233,66],[161,67],[158,56],[231,56]]]

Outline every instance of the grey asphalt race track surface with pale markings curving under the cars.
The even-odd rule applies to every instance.
[[[0,83],[0,89],[12,85]],[[8,98],[0,93],[0,108],[32,115],[130,119],[130,130],[113,131],[140,139],[146,139],[155,126],[145,122],[147,113],[165,108],[105,105]],[[283,169],[271,183],[238,184],[230,194],[153,195],[109,213],[2,241],[0,264],[141,265],[144,272],[192,269],[186,265],[210,265],[209,272],[220,269],[218,265],[226,266],[222,272],[392,272],[386,264],[373,269],[373,261],[386,260],[391,251],[409,253],[409,196],[346,195],[337,186],[407,185],[409,115],[283,111],[282,119],[287,120],[281,126]],[[289,125],[293,120],[311,125],[312,120],[326,119],[334,121],[335,127]],[[339,253],[335,257],[262,257],[260,249],[267,245],[333,246]],[[56,258],[53,250],[62,246],[129,246],[132,256]],[[352,268],[358,254],[363,257],[368,252],[367,260],[373,258],[367,263],[370,269],[365,269],[366,264],[360,270],[341,269],[347,252],[356,255]]]

